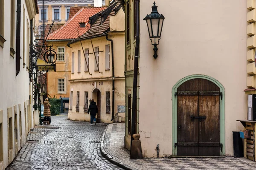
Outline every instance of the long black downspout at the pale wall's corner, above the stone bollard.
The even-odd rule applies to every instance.
[[[136,0],[136,44],[134,53],[134,82],[133,82],[133,93],[132,93],[132,116],[131,116],[131,144],[133,135],[135,132],[136,125],[136,112],[137,112],[137,82],[138,82],[138,64],[139,64],[139,47],[140,47],[140,16],[139,16],[140,2]],[[131,151],[131,150],[130,150]]]

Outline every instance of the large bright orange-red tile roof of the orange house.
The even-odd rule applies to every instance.
[[[47,40],[73,40],[78,37],[77,29],[79,34],[82,35],[88,30],[88,26],[84,28],[79,27],[79,23],[87,23],[89,17],[97,14],[104,10],[106,7],[83,7],[81,8],[67,23],[64,24],[57,31],[50,34]]]

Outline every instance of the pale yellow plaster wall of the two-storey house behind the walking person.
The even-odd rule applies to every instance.
[[[114,113],[117,113],[117,105],[125,105],[125,78],[124,78],[124,33],[110,33],[108,35],[109,39],[113,40],[113,49],[114,49],[114,71],[115,71],[115,107]],[[84,72],[85,59],[83,51],[81,48],[80,42],[71,44],[70,48],[74,52],[74,73],[71,74],[70,79],[70,91],[73,91],[73,105],[72,111],[69,111],[68,117],[72,120],[82,120],[90,121],[90,115],[84,113],[84,91],[88,91],[89,99],[95,98],[93,96],[93,90],[95,88],[101,91],[101,120],[105,123],[111,123],[112,116],[112,57],[110,58],[110,69],[105,69],[105,45],[111,45],[111,41],[106,40],[106,37],[93,38],[93,47],[99,47],[99,73],[94,71],[95,57],[94,54],[89,54],[89,71]],[[83,48],[89,48],[89,53],[93,53],[93,48],[90,40],[82,40]],[[78,73],[78,50],[81,51],[81,72]],[[111,46],[110,46],[111,50]],[[101,85],[99,85],[101,83]],[[79,112],[76,112],[77,104],[77,91],[80,92],[80,107]],[[111,95],[111,114],[106,113],[106,91],[110,91]],[[70,96],[72,97],[72,96]],[[95,101],[96,102],[96,101]],[[119,114],[118,116],[122,117],[122,121],[125,121],[125,115]]]

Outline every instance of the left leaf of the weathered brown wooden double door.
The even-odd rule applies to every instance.
[[[177,96],[177,142],[198,142],[198,96]],[[179,128],[180,127],[180,128]],[[197,146],[177,146],[177,155],[198,155]]]

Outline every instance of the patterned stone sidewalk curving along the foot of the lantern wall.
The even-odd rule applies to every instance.
[[[125,124],[108,125],[102,155],[128,170],[256,170],[256,162],[245,158],[172,158],[130,160],[124,149]]]

